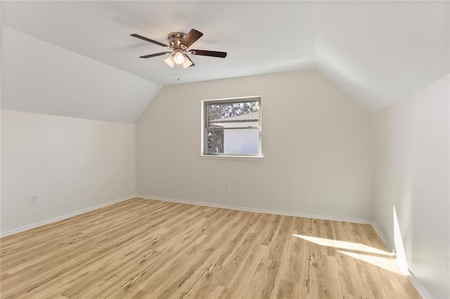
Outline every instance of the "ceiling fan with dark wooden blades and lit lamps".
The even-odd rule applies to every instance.
[[[168,50],[170,50],[166,52],[140,56],[140,58],[150,58],[170,54],[169,57],[164,60],[164,62],[166,62],[167,65],[169,65],[169,67],[174,67],[174,64],[183,65],[185,69],[186,67],[193,67],[194,62],[191,60],[191,58],[189,58],[188,54],[226,58],[226,52],[188,50],[188,48],[192,46],[192,44],[195,43],[195,41],[197,41],[198,39],[200,39],[200,37],[203,36],[202,32],[195,29],[191,29],[191,31],[188,32],[188,34],[183,32],[172,32],[167,34],[169,45],[162,44],[159,41],[154,41],[153,39],[148,39],[147,37],[141,36],[139,34],[131,34],[131,36],[134,36],[138,39],[142,39],[144,41],[148,41],[153,44],[157,44],[158,46],[163,46]]]

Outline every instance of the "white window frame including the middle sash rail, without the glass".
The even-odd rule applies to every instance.
[[[259,126],[252,126],[250,128],[258,129],[258,153],[257,154],[225,154],[225,153],[207,153],[207,130],[214,129],[213,127],[207,127],[209,124],[208,116],[207,116],[207,105],[212,103],[221,104],[221,103],[230,103],[230,102],[250,102],[250,101],[258,101],[259,102]],[[247,97],[238,97],[238,98],[223,98],[223,99],[213,99],[213,100],[202,100],[201,101],[201,144],[200,144],[200,157],[207,158],[262,158],[262,107],[261,107],[261,96],[260,95],[252,95]],[[236,127],[236,128],[226,128],[226,130],[240,130],[243,128],[249,127]],[[224,129],[225,130],[225,129]]]

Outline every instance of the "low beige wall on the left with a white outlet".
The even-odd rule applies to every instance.
[[[3,110],[1,233],[133,196],[135,153],[133,124]]]

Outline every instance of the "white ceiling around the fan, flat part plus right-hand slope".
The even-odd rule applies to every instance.
[[[373,111],[450,69],[449,2],[2,1],[2,23],[162,85],[317,67]],[[129,36],[191,28],[205,34],[191,48],[228,56],[171,69]]]

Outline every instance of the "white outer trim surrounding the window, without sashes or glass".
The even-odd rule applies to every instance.
[[[234,102],[239,100],[251,100],[258,99],[259,100],[259,153],[258,154],[205,154],[205,104],[207,102]],[[200,121],[200,155],[198,157],[205,159],[249,159],[249,160],[258,160],[264,157],[262,154],[262,108],[261,108],[261,95],[252,95],[247,97],[238,97],[238,98],[221,98],[221,99],[211,99],[211,100],[202,100],[200,102],[201,105],[201,121]]]

